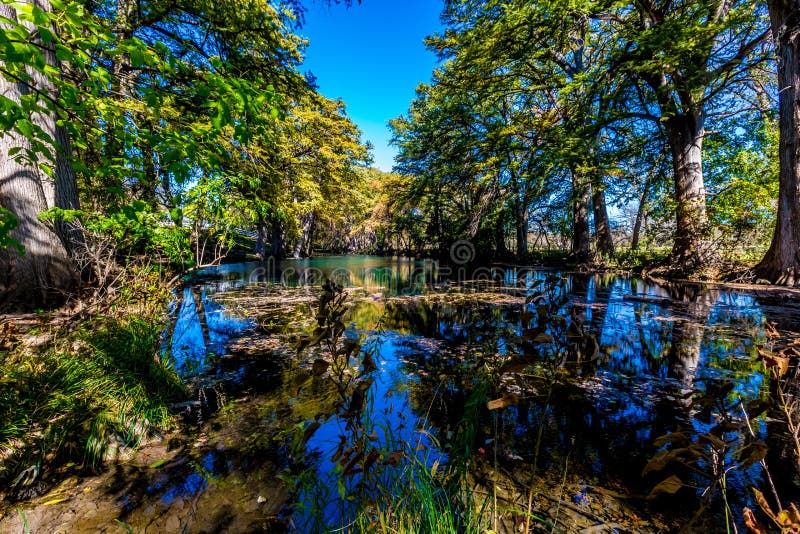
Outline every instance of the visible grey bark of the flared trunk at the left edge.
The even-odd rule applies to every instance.
[[[0,4],[0,15],[17,20],[16,10],[7,4]],[[41,77],[36,78],[37,83],[41,81]],[[49,87],[36,89],[47,93]],[[0,76],[0,94],[15,103],[29,92],[24,84]],[[54,116],[51,124],[50,131],[55,132]],[[31,142],[11,131],[0,137],[0,205],[18,217],[19,225],[10,235],[25,251],[19,254],[13,247],[0,250],[0,305],[9,309],[52,306],[63,301],[78,282],[64,243],[39,220],[39,214],[56,203],[55,183],[33,163],[9,157],[12,148],[20,148],[24,154],[31,149]],[[68,193],[62,191],[61,195]],[[52,204],[48,204],[48,197]]]

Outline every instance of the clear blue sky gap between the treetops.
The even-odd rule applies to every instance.
[[[374,166],[390,171],[389,119],[402,115],[436,57],[422,40],[439,31],[440,0],[362,0],[350,8],[308,2],[300,34],[309,39],[301,70],[317,77],[320,92],[341,97],[350,118],[375,145]]]

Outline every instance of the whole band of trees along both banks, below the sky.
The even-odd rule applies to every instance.
[[[179,272],[234,249],[435,257],[465,239],[484,261],[797,281],[778,7],[447,2],[426,43],[440,67],[391,124],[393,174],[301,74],[299,4],[5,9],[7,308],[126,258]]]

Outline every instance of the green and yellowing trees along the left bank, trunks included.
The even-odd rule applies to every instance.
[[[296,1],[0,3],[0,306],[180,270],[238,230],[308,254],[364,202],[369,150],[299,71]]]

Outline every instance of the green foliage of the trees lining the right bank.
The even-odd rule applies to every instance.
[[[534,233],[547,249],[571,239],[577,254],[593,226],[599,250],[604,210],[617,236],[633,229],[631,220],[623,234],[627,221],[606,204],[637,206],[637,237],[669,246],[685,219],[668,180],[670,167],[683,172],[668,142],[686,135],[682,124],[714,131],[703,165],[713,233],[761,239],[749,230],[769,225],[775,191],[760,162],[776,159],[748,102],[761,113],[775,106],[761,68],[764,6],[449,0],[442,21],[426,41],[441,66],[392,122],[421,247],[469,239],[502,255],[516,242],[523,259],[531,251],[520,236]],[[742,118],[753,120],[738,133]],[[738,159],[714,146],[717,130],[731,150],[743,147]]]

